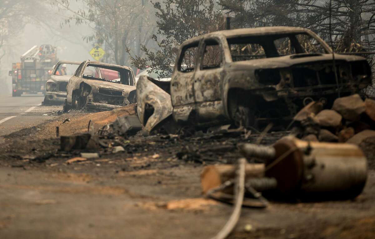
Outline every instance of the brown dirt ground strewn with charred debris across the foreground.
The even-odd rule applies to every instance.
[[[51,112],[52,114],[52,112]],[[0,238],[211,238],[232,206],[204,199],[206,164],[233,163],[238,142],[258,134],[114,137],[124,152],[66,163],[82,151],[61,152],[60,135],[95,131],[134,106],[90,114],[52,114],[51,120],[5,136],[0,144]],[[65,121],[69,118],[70,121]],[[64,123],[63,123],[64,122]],[[272,144],[286,133],[269,133]],[[354,200],[277,202],[243,208],[231,239],[374,238],[375,170]]]

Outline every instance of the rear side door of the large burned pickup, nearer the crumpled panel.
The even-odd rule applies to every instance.
[[[173,117],[176,121],[187,121],[190,112],[195,109],[193,83],[198,46],[199,40],[183,46],[174,67],[171,79],[171,100]]]

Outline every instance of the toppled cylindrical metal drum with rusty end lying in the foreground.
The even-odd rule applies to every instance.
[[[356,145],[288,136],[273,147],[276,157],[267,161],[265,174],[276,178],[284,195],[348,199],[365,186],[367,160]]]

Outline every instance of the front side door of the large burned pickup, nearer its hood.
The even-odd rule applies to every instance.
[[[216,38],[205,39],[199,49],[194,95],[199,121],[211,121],[223,114],[223,47]]]

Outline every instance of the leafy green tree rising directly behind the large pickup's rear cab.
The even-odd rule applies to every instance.
[[[132,66],[138,69],[149,66],[160,69],[160,72],[171,72],[181,43],[224,28],[224,18],[220,11],[214,9],[213,0],[164,0],[151,3],[156,9],[157,34],[161,40],[158,41],[155,34],[151,36],[158,48],[150,50],[143,46],[145,57],[132,56],[132,52],[127,51]]]

